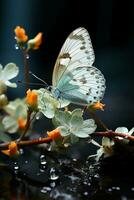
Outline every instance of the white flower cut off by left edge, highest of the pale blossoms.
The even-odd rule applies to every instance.
[[[19,68],[14,63],[7,64],[4,69],[2,65],[0,65],[0,85],[4,84],[9,87],[17,87],[16,83],[11,83],[9,80],[16,77],[18,73]]]

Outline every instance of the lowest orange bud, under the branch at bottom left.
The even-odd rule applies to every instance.
[[[14,156],[14,155],[18,155],[19,151],[18,151],[18,147],[16,142],[11,142],[8,145],[8,149],[7,150],[2,150],[2,153],[4,153],[7,156]]]

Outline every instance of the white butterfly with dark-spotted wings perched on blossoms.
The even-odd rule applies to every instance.
[[[88,31],[74,30],[65,40],[56,60],[52,76],[52,94],[61,102],[77,105],[100,101],[105,92],[105,78],[92,66],[94,50]]]

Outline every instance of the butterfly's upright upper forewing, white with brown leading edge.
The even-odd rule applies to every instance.
[[[88,31],[77,28],[66,39],[57,58],[52,84],[56,86],[66,70],[74,70],[80,64],[92,66],[95,56]]]

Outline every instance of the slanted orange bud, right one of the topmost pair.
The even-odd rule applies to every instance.
[[[38,49],[42,43],[42,33],[38,33],[33,39],[28,41],[28,49]]]

